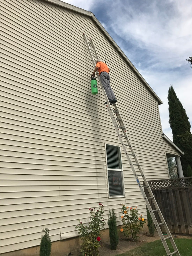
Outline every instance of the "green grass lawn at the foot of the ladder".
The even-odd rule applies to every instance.
[[[181,256],[192,256],[192,239],[175,238],[174,241]],[[171,245],[168,243],[168,246],[169,244]],[[161,240],[157,240],[116,256],[167,256],[167,254]]]

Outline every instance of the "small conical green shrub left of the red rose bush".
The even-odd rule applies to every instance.
[[[49,236],[49,229],[43,228],[42,229],[45,234],[41,237],[40,242],[40,256],[50,256],[51,254],[51,239]]]

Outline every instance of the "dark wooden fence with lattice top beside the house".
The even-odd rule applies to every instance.
[[[192,177],[148,183],[170,232],[192,234]],[[155,209],[152,202],[150,205]]]

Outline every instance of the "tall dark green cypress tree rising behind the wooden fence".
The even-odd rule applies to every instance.
[[[185,155],[181,157],[183,174],[187,177],[187,166],[192,166],[192,134],[189,118],[179,101],[173,87],[168,92],[169,124],[173,134],[173,143],[177,145]]]

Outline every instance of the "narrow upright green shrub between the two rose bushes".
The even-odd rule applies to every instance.
[[[109,238],[110,238],[111,249],[116,250],[119,242],[119,237],[118,237],[118,231],[117,231],[116,215],[113,208],[112,208],[112,212],[111,210],[109,210],[108,226],[109,226]]]

